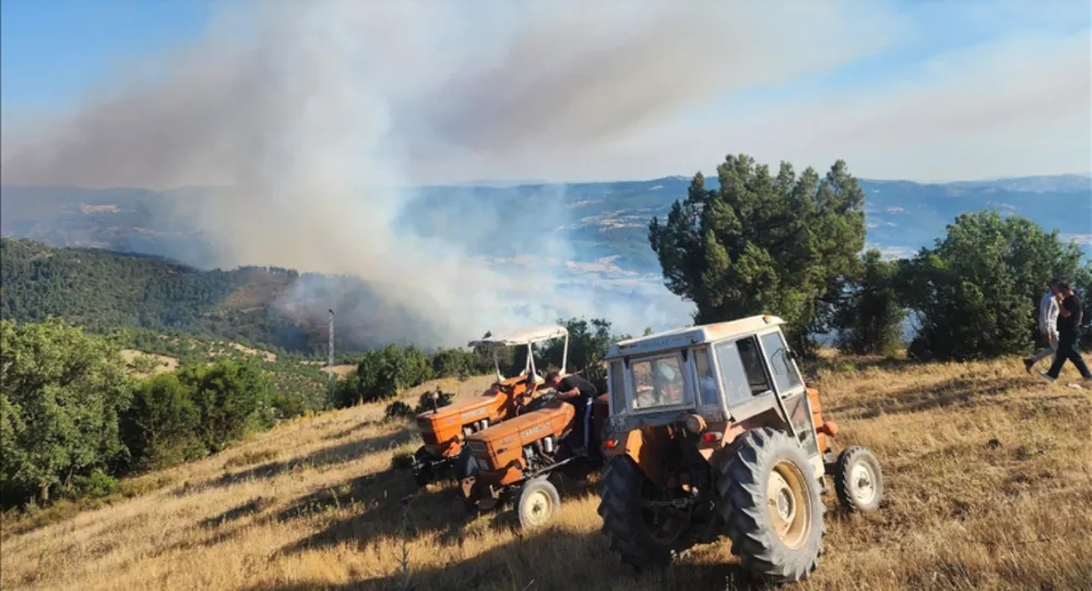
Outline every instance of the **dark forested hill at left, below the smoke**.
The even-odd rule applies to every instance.
[[[305,325],[273,303],[298,274],[245,267],[198,270],[163,258],[0,240],[2,316],[61,316],[96,331],[142,327],[215,336],[293,351],[325,343],[321,322]]]

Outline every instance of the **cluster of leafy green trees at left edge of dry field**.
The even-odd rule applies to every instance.
[[[117,339],[60,318],[0,321],[0,378],[5,506],[106,494],[116,477],[219,451],[301,412],[256,360],[134,378]]]

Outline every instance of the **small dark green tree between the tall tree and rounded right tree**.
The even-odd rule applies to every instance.
[[[856,354],[888,354],[899,347],[906,311],[899,302],[898,273],[899,264],[885,261],[878,250],[864,254],[860,275],[834,314],[839,349]]]

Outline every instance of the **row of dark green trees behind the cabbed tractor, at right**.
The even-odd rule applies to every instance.
[[[886,260],[865,249],[865,194],[845,161],[823,177],[788,162],[773,174],[729,155],[716,172],[716,190],[698,173],[666,219],[649,224],[664,285],[693,302],[696,323],[776,314],[806,355],[831,333],[843,350],[888,353],[910,316],[911,355],[971,360],[1028,353],[1052,280],[1092,297],[1080,248],[1019,216],[964,213],[933,248]]]

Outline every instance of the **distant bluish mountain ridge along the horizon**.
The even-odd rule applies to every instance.
[[[522,181],[521,181],[522,182]],[[648,224],[684,198],[690,177],[586,183],[449,184],[413,188],[399,224],[418,234],[459,244],[473,255],[510,260],[539,255],[534,241],[497,241],[466,228],[506,227],[558,232],[565,263],[613,264],[639,275],[656,275]],[[869,246],[905,256],[931,245],[954,217],[990,208],[1030,218],[1092,253],[1092,177],[1058,174],[1011,179],[918,183],[862,179],[866,193]],[[707,177],[707,186],[716,186]],[[0,234],[64,246],[94,246],[156,254],[198,267],[217,262],[215,246],[175,215],[199,200],[214,205],[223,188],[79,189],[0,186]],[[491,232],[483,232],[491,233]]]

